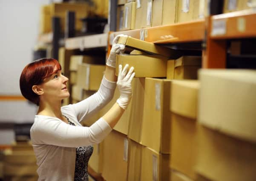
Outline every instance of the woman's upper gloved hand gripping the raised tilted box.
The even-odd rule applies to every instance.
[[[121,36],[126,36],[127,37],[127,35],[120,34],[118,36],[115,36],[115,38],[112,42],[112,48],[111,48],[110,53],[109,53],[109,58],[106,61],[106,65],[109,66],[109,67],[114,67],[115,68],[116,54],[119,54],[125,48],[125,45],[117,43],[119,37],[121,37]]]

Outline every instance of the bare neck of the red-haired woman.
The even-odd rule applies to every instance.
[[[51,116],[51,117],[58,117],[62,119],[62,113],[61,113],[61,101],[57,102],[44,102],[40,101],[39,108],[37,111],[38,115],[45,115],[45,116]]]

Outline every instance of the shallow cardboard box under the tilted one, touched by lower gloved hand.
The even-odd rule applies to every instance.
[[[117,55],[116,66],[129,64],[134,67],[135,77],[166,77],[167,59],[159,56]],[[118,69],[115,70],[118,75]]]

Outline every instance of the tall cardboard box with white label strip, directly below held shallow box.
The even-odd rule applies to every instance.
[[[145,80],[141,144],[158,153],[171,152],[170,86],[168,79]]]

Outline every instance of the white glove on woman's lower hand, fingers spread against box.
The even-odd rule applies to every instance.
[[[120,92],[120,97],[116,101],[118,105],[126,109],[131,98],[132,98],[132,78],[135,75],[133,72],[134,67],[131,67],[129,72],[127,73],[129,65],[126,64],[124,66],[124,70],[122,70],[122,65],[119,65],[119,73],[118,73],[118,80],[117,80],[117,87]],[[132,73],[133,72],[133,73]]]

